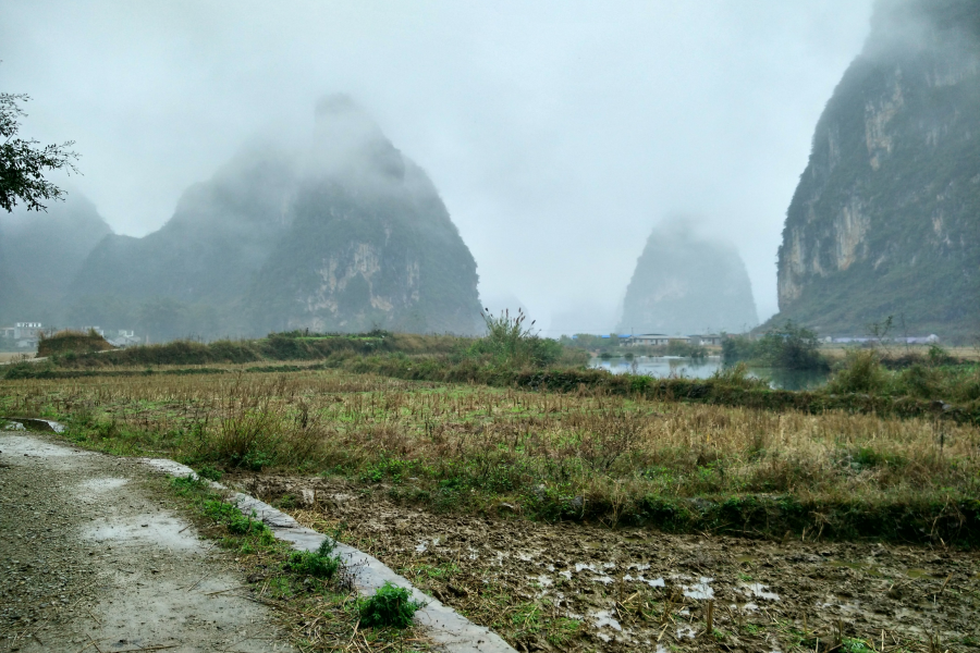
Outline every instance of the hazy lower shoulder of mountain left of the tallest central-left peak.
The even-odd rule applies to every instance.
[[[102,241],[72,294],[210,305],[240,299],[285,233],[293,176],[291,162],[271,147],[241,152],[210,181],[184,192],[159,231]]]

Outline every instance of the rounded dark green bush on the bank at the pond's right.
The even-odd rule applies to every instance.
[[[726,365],[744,360],[758,367],[826,369],[829,365],[819,347],[816,332],[786,321],[757,340],[742,335],[726,337],[722,343],[722,356]]]

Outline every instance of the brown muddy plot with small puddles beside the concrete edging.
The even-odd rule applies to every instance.
[[[939,651],[980,651],[978,552],[461,517],[394,504],[383,488],[236,482],[287,497],[306,526],[345,523],[344,541],[522,651],[824,651],[842,638],[838,650],[930,651],[930,637]]]

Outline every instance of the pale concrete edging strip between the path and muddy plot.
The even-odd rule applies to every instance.
[[[187,467],[168,458],[140,458],[142,463],[158,471],[163,471],[174,477],[198,478],[197,473]],[[217,490],[229,490],[225,485],[209,481]],[[262,520],[277,539],[290,542],[293,549],[299,551],[316,551],[319,549],[326,535],[315,530],[304,528],[295,519],[278,510],[267,503],[254,496],[235,492],[232,502],[246,516],[255,516]],[[452,607],[424,594],[412,582],[391,570],[388,565],[378,558],[364,553],[353,546],[338,542],[336,553],[352,570],[354,586],[363,595],[369,595],[385,582],[405,588],[412,592],[412,597],[425,604],[415,613],[416,624],[427,630],[427,634],[446,651],[453,653],[516,653],[499,634],[483,626],[477,626]]]

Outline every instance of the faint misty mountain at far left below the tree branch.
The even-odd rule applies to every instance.
[[[111,233],[95,206],[77,192],[63,202],[50,202],[47,211],[21,208],[0,214],[2,319],[57,321],[86,258]]]

